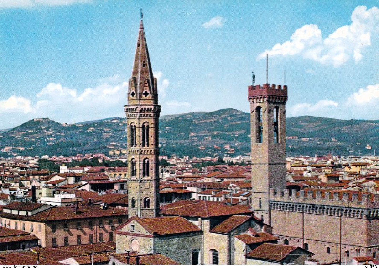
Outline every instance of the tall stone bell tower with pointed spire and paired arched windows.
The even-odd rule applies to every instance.
[[[151,218],[159,210],[159,129],[157,79],[153,77],[142,14],[128,104],[125,105],[128,139],[129,217]]]

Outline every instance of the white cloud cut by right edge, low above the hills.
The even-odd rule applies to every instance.
[[[359,89],[346,100],[348,106],[371,106],[377,108],[379,104],[379,84],[368,85],[365,89]],[[370,107],[372,109],[372,107]]]

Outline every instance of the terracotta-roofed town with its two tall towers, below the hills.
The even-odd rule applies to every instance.
[[[287,98],[247,87],[249,155],[161,155],[141,13],[125,151],[0,159],[0,264],[379,264],[379,158],[287,157]]]

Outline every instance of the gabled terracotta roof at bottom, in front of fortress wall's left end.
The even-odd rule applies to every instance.
[[[290,255],[294,250],[301,249],[300,247],[294,247],[289,245],[280,245],[273,243],[263,243],[262,245],[256,247],[251,250],[248,254],[246,254],[246,258],[253,259],[262,259],[262,260],[272,260],[272,261],[282,261],[288,255]],[[312,254],[305,249],[303,251],[306,254]]]

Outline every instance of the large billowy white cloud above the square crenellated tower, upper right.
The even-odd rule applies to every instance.
[[[351,24],[345,25],[326,39],[317,25],[304,25],[292,34],[289,41],[277,43],[272,49],[258,55],[257,60],[270,56],[297,55],[321,64],[339,67],[351,58],[362,60],[363,49],[371,46],[371,35],[379,32],[379,8],[357,6],[351,14]]]

